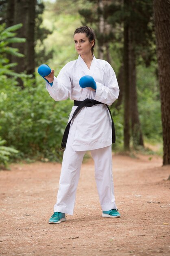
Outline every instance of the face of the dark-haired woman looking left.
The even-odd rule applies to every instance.
[[[78,33],[74,35],[74,43],[75,49],[80,55],[89,54],[94,45],[94,40],[89,42],[89,38],[87,37],[86,33]]]

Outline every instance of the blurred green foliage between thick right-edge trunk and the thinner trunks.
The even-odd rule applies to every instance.
[[[159,86],[155,75],[155,64],[137,67],[137,94],[139,118],[145,138],[161,141],[161,102]]]

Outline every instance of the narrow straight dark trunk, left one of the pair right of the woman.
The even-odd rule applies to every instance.
[[[125,6],[128,3],[124,0]],[[130,150],[129,107],[129,25],[124,22],[124,150]]]

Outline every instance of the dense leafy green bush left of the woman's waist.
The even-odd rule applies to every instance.
[[[0,86],[0,136],[20,150],[20,158],[59,161],[72,102],[55,102],[46,91],[44,81],[36,88],[32,85],[34,82],[24,79],[24,90],[15,87],[12,79]]]

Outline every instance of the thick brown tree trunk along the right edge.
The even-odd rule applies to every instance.
[[[163,127],[163,165],[170,164],[170,2],[154,0]]]

